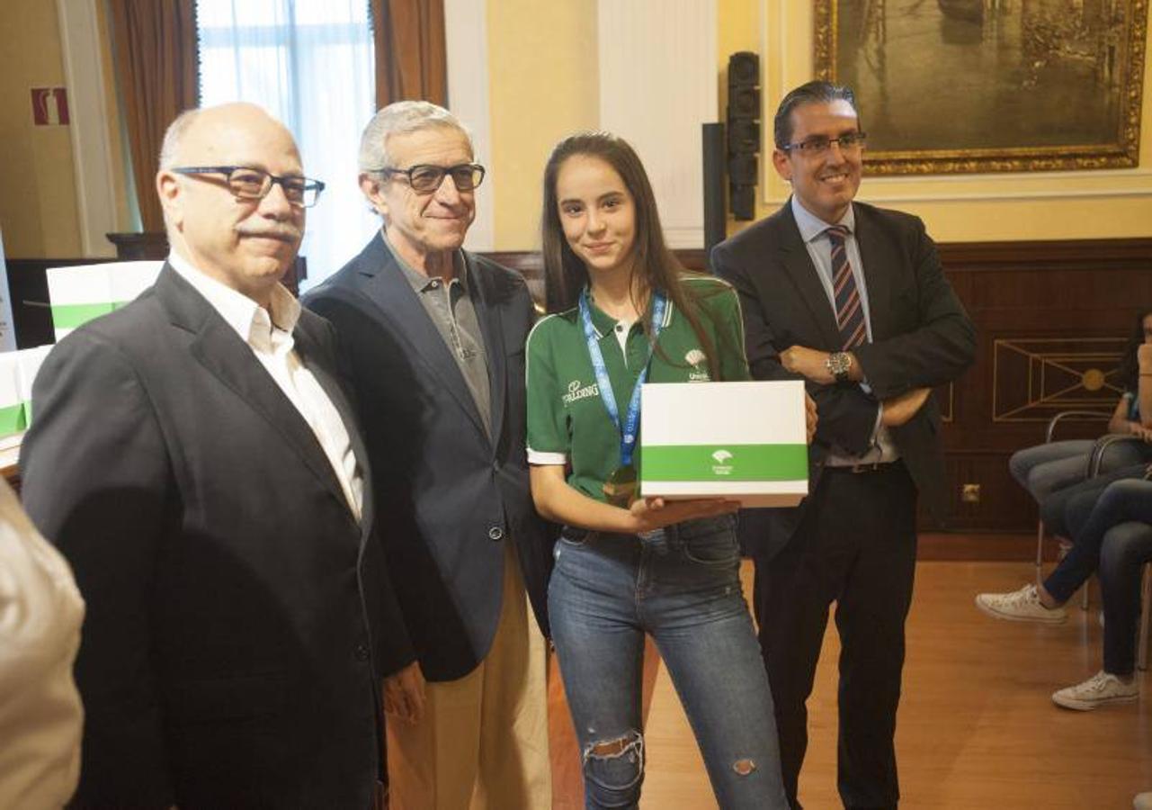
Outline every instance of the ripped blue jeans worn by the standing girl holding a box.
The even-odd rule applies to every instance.
[[[644,780],[641,688],[651,635],[725,810],[787,808],[772,692],[740,583],[732,516],[644,538],[567,529],[548,613],[588,808],[635,808]]]

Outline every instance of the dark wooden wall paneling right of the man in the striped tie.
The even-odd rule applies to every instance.
[[[943,427],[949,528],[1034,531],[1036,506],[1008,474],[1008,456],[1040,444],[1060,410],[1112,412],[1120,350],[1137,313],[1152,308],[1152,240],[939,248],[978,338]],[[1099,425],[1069,424],[1059,438],[1098,433]],[[980,485],[979,504],[960,500],[965,483]]]

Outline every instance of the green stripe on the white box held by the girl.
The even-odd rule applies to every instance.
[[[643,480],[806,480],[806,445],[645,445]]]

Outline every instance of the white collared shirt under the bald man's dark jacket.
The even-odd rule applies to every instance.
[[[300,320],[300,302],[283,285],[272,290],[272,315],[243,293],[197,270],[176,253],[168,264],[203,295],[220,317],[248,343],[256,359],[267,370],[293,407],[312,429],[324,454],[332,464],[349,508],[361,520],[364,504],[364,478],[356,463],[348,429],[340,411],[332,404],[316,377],[300,361],[291,332]]]

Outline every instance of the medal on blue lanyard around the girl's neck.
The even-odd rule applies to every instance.
[[[584,340],[588,341],[588,354],[592,361],[592,371],[596,372],[596,385],[600,391],[600,401],[604,409],[608,411],[608,418],[620,432],[620,465],[616,467],[604,482],[604,495],[613,506],[628,508],[636,498],[636,467],[632,465],[632,453],[636,449],[636,433],[639,429],[641,419],[641,386],[647,378],[649,363],[652,362],[652,350],[655,348],[657,338],[660,336],[660,328],[664,326],[664,315],[668,306],[668,300],[662,293],[652,294],[652,340],[649,343],[649,356],[636,378],[632,386],[632,395],[628,401],[628,412],[623,424],[620,421],[620,409],[616,407],[616,395],[612,391],[612,380],[608,379],[608,368],[604,363],[604,354],[600,351],[600,342],[596,336],[596,328],[592,326],[592,306],[588,301],[588,289],[579,294],[579,317],[584,326]]]

